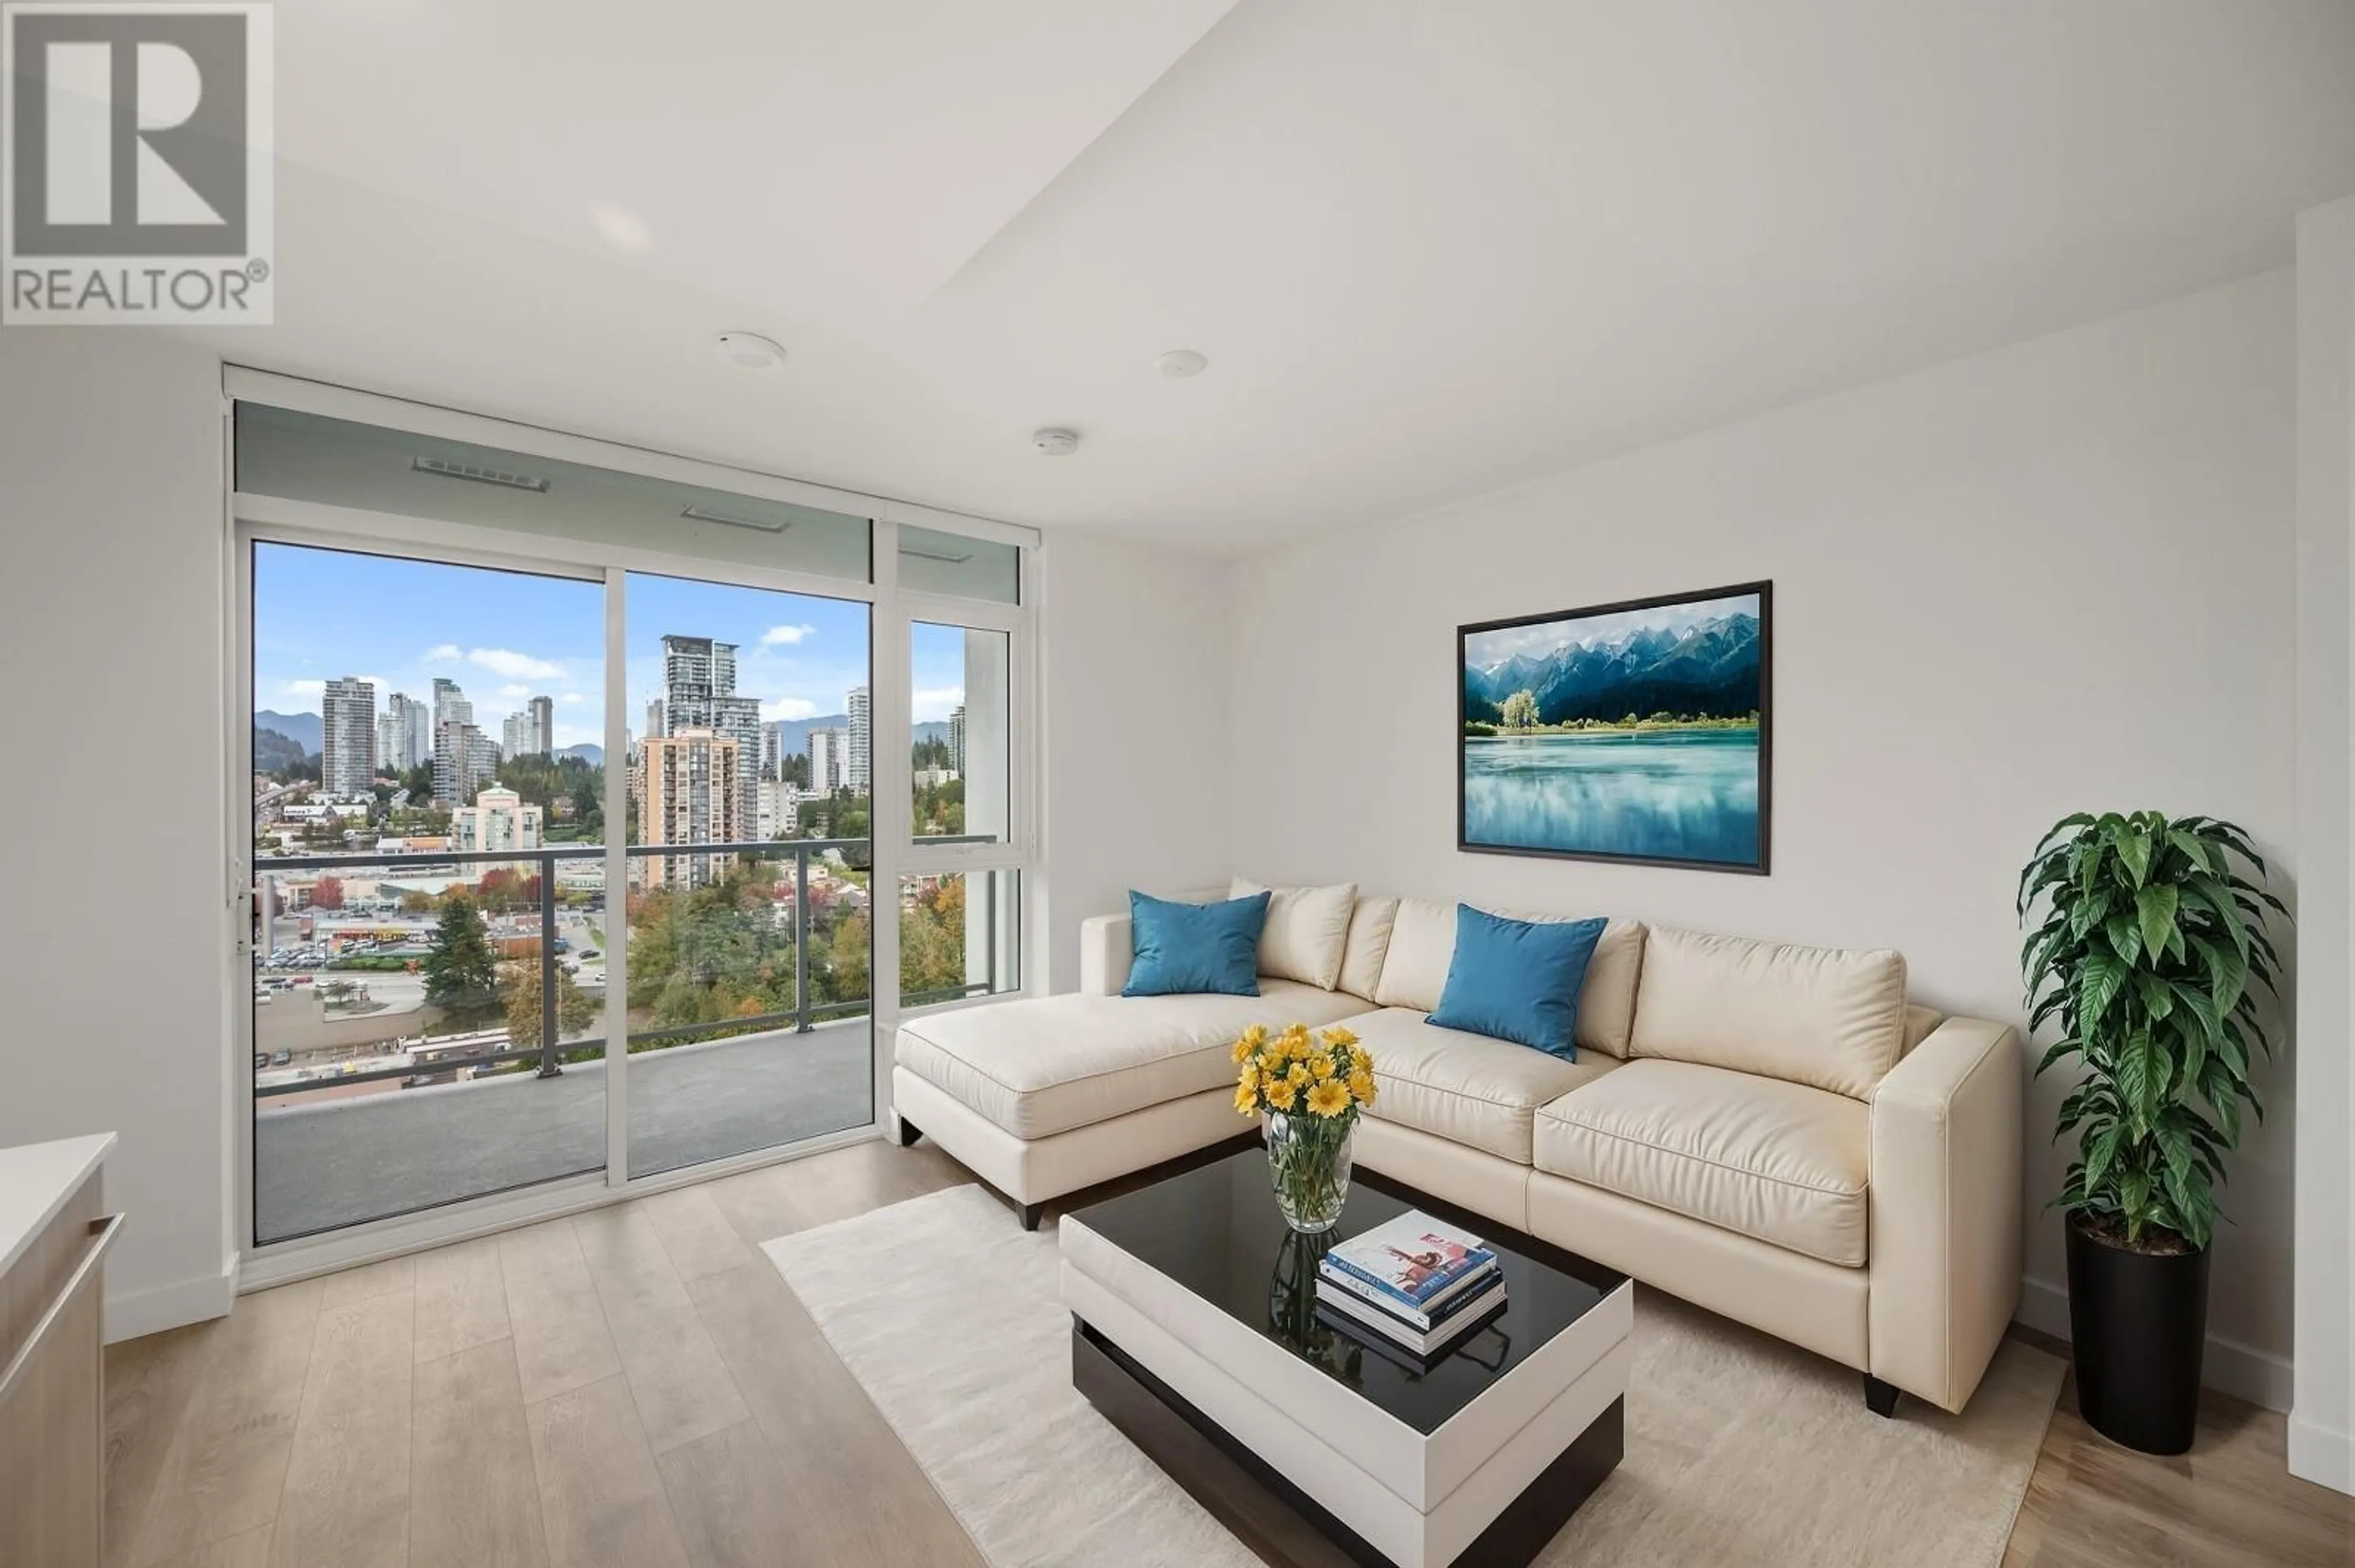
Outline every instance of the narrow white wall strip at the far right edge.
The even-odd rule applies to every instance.
[[[2298,217],[2298,1215],[2289,1469],[2355,1490],[2348,739],[2355,647],[2355,200]]]

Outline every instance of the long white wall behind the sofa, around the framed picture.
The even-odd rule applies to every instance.
[[[2291,301],[2268,273],[1241,563],[1236,871],[1886,944],[1922,1001],[2021,1019],[2014,881],[2061,815],[2211,812],[2294,869]],[[1757,577],[1773,876],[1455,850],[1458,624]],[[2209,1375],[2280,1406],[2294,1107],[2258,1081]],[[2023,1316],[2065,1333],[2058,1097]]]

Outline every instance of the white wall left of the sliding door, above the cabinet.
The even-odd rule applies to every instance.
[[[122,1135],[111,1337],[228,1309],[219,410],[151,330],[0,341],[0,1144]]]

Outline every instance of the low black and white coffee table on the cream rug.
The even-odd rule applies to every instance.
[[[1437,1361],[1319,1314],[1258,1147],[1062,1220],[1074,1384],[1272,1563],[1528,1563],[1620,1462],[1634,1285],[1371,1172],[1333,1238],[1408,1208],[1505,1271]]]

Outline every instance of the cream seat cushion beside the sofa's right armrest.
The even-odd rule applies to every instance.
[[[1872,1109],[1693,1062],[1627,1062],[1538,1111],[1535,1165],[1844,1269],[1865,1262]]]

